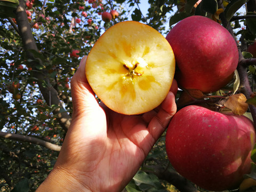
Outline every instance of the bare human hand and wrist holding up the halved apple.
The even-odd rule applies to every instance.
[[[177,84],[157,109],[122,115],[98,105],[84,57],[71,79],[73,116],[53,170],[39,191],[121,191],[139,170],[177,107]],[[175,80],[174,80],[175,81]]]

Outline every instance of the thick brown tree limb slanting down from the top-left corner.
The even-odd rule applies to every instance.
[[[20,31],[22,43],[26,50],[27,57],[31,60],[34,60],[31,62],[31,64],[32,64],[32,68],[34,69],[33,76],[38,79],[37,84],[39,86],[39,90],[43,94],[43,97],[47,105],[59,106],[59,108],[56,108],[53,111],[53,113],[57,115],[58,117],[57,119],[60,125],[62,126],[62,128],[65,131],[67,131],[70,125],[71,118],[67,112],[60,113],[60,111],[65,111],[65,110],[63,109],[63,106],[60,102],[58,92],[54,89],[54,87],[50,83],[48,84],[48,86],[46,87],[44,86],[44,83],[47,82],[49,79],[47,78],[47,71],[46,70],[38,71],[35,68],[35,66],[38,65],[38,61],[35,60],[36,58],[34,58],[33,53],[29,51],[29,50],[35,50],[36,52],[38,52],[38,49],[34,40],[34,36],[31,31],[31,27],[27,19],[25,1],[19,0],[19,6],[17,7],[16,15],[17,15],[17,18],[16,18],[17,25]]]

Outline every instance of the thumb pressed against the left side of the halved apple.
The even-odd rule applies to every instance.
[[[87,110],[99,108],[95,99],[95,94],[89,85],[85,75],[85,63],[87,56],[84,56],[79,67],[71,78],[71,97],[73,102],[73,118],[74,116],[85,115]]]

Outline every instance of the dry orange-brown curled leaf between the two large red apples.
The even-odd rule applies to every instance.
[[[247,109],[248,104],[246,103],[246,97],[244,94],[234,94],[231,95],[225,102],[225,106],[232,110],[235,115],[243,115]]]

